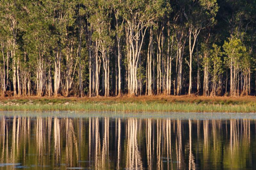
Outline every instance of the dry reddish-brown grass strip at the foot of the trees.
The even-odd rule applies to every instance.
[[[153,96],[138,96],[128,97],[0,97],[0,101],[6,100],[61,100],[61,101],[79,101],[79,102],[185,102],[185,103],[256,103],[256,97],[204,97],[204,96],[166,96],[166,95],[153,95]]]

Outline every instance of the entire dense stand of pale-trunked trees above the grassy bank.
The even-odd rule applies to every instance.
[[[1,96],[246,96],[255,0],[2,0]]]

